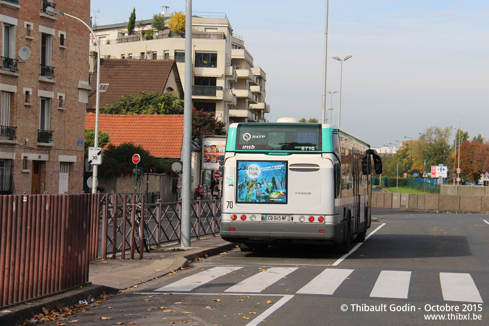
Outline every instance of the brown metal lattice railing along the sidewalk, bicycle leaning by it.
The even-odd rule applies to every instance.
[[[138,206],[140,208],[138,208]],[[104,194],[100,204],[100,252],[97,249],[90,253],[92,259],[98,257],[125,259],[138,255],[143,258],[143,244],[139,242],[139,254],[136,252],[136,228],[143,232],[143,223],[137,223],[136,211],[140,209],[140,218],[145,222],[149,235],[149,245],[161,247],[164,244],[180,243],[182,203],[171,202],[146,203],[144,194],[110,193]],[[216,198],[196,200],[191,204],[191,238],[219,234],[221,202]]]

